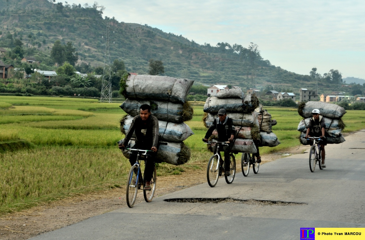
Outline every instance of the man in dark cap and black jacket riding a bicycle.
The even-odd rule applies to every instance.
[[[214,129],[218,132],[218,142],[229,141],[228,145],[224,145],[224,175],[230,176],[230,165],[231,160],[229,154],[233,146],[233,139],[235,137],[235,129],[233,126],[233,121],[227,117],[227,112],[225,109],[219,109],[218,118],[214,119],[213,124],[209,127],[207,133],[204,137],[204,142],[208,141],[208,138],[212,135]],[[217,146],[214,148],[214,153],[216,153]]]

